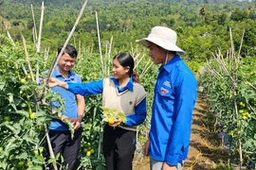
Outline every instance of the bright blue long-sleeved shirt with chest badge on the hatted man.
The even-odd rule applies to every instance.
[[[149,154],[177,164],[187,158],[197,81],[179,56],[159,67],[152,107]]]

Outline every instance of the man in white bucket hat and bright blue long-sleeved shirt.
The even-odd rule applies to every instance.
[[[150,156],[151,170],[181,170],[190,145],[197,81],[178,56],[184,51],[175,45],[173,29],[155,26],[147,38],[137,42],[149,48],[155,64],[161,64],[143,154]]]

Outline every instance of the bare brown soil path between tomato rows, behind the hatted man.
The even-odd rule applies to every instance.
[[[220,169],[228,161],[228,154],[214,130],[214,118],[210,116],[206,98],[198,93],[192,119],[191,145],[183,170]],[[140,159],[138,159],[140,158]],[[149,158],[136,154],[134,170],[149,170]]]

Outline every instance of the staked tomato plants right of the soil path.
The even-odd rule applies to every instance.
[[[256,63],[255,57],[229,58],[204,65],[200,85],[204,87],[219,130],[229,135],[232,155],[248,163],[256,160]],[[223,69],[225,68],[225,69]]]

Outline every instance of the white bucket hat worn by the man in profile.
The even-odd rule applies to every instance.
[[[176,45],[176,40],[177,34],[173,29],[165,26],[155,26],[147,38],[137,40],[136,42],[142,43],[147,48],[149,47],[148,42],[153,42],[168,51],[175,51],[184,55],[184,51]]]

